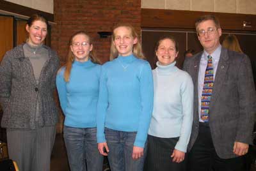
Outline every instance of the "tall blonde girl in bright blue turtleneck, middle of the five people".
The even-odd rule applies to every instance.
[[[111,57],[115,59],[102,66],[100,76],[98,148],[108,155],[112,171],[140,171],[154,89],[150,65],[143,60],[138,34],[131,25],[113,29]]]

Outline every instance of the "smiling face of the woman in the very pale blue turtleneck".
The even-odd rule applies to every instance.
[[[173,63],[178,54],[179,52],[176,50],[175,43],[169,38],[161,40],[156,50],[156,56],[159,64],[161,65],[168,65]]]

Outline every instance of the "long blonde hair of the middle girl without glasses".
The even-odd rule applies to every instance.
[[[110,61],[115,59],[118,56],[118,51],[116,50],[115,44],[114,44],[114,38],[115,38],[115,29],[118,27],[127,27],[128,29],[131,30],[131,36],[133,38],[137,38],[137,43],[133,45],[133,54],[134,56],[140,58],[140,59],[145,59],[145,56],[143,55],[142,48],[141,48],[141,43],[140,43],[140,38],[138,34],[136,33],[134,27],[131,26],[131,24],[126,24],[126,23],[120,23],[117,24],[115,27],[113,27],[113,35],[111,36],[111,47],[110,47]]]

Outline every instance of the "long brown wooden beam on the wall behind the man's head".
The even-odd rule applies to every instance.
[[[141,27],[195,29],[195,20],[205,14],[218,17],[224,30],[256,31],[256,15],[148,8],[141,8]],[[243,27],[244,21],[250,22],[252,27]]]

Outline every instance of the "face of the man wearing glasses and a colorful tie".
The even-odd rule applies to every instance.
[[[213,29],[213,31],[211,31]],[[205,31],[205,34],[198,34],[198,40],[204,47],[204,50],[212,54],[220,45],[221,28],[217,28],[213,20],[205,20],[200,22],[196,27],[196,31]]]

